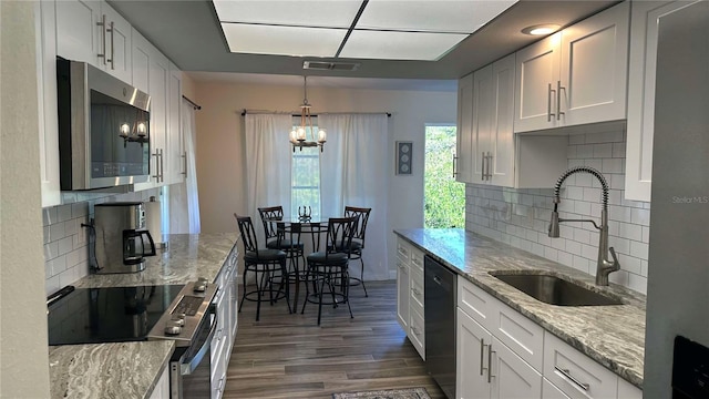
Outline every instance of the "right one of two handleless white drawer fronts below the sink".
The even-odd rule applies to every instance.
[[[491,301],[490,314],[490,332],[536,370],[542,370],[544,329],[497,299]]]

